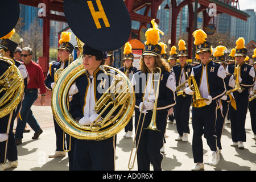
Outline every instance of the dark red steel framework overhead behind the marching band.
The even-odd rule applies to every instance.
[[[162,4],[164,0],[124,0],[127,9],[129,10],[131,20],[136,20],[140,22],[139,30],[131,30],[135,35],[138,35],[141,27],[147,27],[147,24],[150,24],[152,19],[156,19],[156,22],[159,23],[159,19],[156,18],[156,14],[158,12],[159,6]],[[170,7],[172,10],[172,18],[171,18],[171,46],[174,46],[176,43],[176,22],[177,16],[184,6],[188,6],[189,10],[189,23],[188,23],[188,54],[189,58],[192,57],[192,32],[194,30],[194,8],[193,2],[195,0],[185,0],[177,5],[176,0],[170,0]],[[51,14],[50,11],[59,11],[63,12],[63,0],[19,0],[20,4],[35,6],[38,7],[39,3],[44,3],[46,5],[46,16],[42,16],[39,18],[43,18],[43,57],[39,59],[41,65],[44,65],[44,72],[48,72],[48,60],[49,60],[49,33],[50,33],[50,20],[56,20],[60,22],[65,22],[65,17],[60,15]],[[243,13],[242,11],[237,9],[239,7],[238,0],[198,0],[198,4],[200,7],[197,9],[197,13],[203,12],[203,24],[206,27],[213,16],[208,15],[209,4],[214,3],[216,5],[216,13],[225,13],[236,18],[240,18],[242,20],[247,20],[249,15]],[[136,11],[141,10],[145,7],[144,14],[137,14]]]

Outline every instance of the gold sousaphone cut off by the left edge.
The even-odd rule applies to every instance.
[[[0,118],[2,118],[11,113],[22,100],[24,81],[14,60],[0,55],[0,61],[9,65],[5,73],[0,76],[0,94],[2,95],[0,98]]]

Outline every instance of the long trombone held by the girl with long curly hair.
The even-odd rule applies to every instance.
[[[158,73],[157,74],[159,75],[159,77],[158,77],[158,80],[157,80],[158,81],[158,85],[156,87],[155,104],[154,104],[153,114],[152,114],[152,117],[151,117],[150,125],[148,125],[148,127],[144,128],[144,129],[152,130],[152,131],[160,131],[156,127],[156,108],[157,108],[157,103],[158,103],[160,75],[162,73],[162,69],[159,68],[159,67],[156,67],[155,68],[155,73],[156,73],[157,69],[158,69]],[[150,83],[150,91],[148,93],[147,101],[149,100],[149,97],[150,97],[150,92],[151,92],[151,89],[152,89],[152,82],[155,81],[154,80],[154,74],[155,73],[153,73],[153,75],[152,75],[152,81]],[[146,87],[147,87],[147,85],[144,88],[144,93],[145,93]],[[142,111],[143,111],[143,106],[144,106],[145,100],[146,100],[146,98],[143,97],[142,98],[142,110],[141,110],[141,113],[139,113],[139,120],[138,120],[137,128],[136,128],[136,131],[135,131],[135,136],[134,136],[134,140],[133,140],[133,147],[131,148],[131,154],[130,154],[130,158],[129,158],[129,162],[128,162],[128,168],[130,170],[134,168],[134,163],[135,163],[135,159],[136,159],[136,155],[137,155],[137,151],[138,151],[138,147],[139,147],[139,140],[141,140],[142,127],[143,127],[144,119],[145,119],[145,116],[146,116],[146,114],[144,114],[144,113],[143,113],[144,116],[143,116],[143,119],[142,119],[141,130],[139,131],[139,137],[138,137],[138,142],[137,142],[137,146],[136,146],[136,151],[135,151],[135,154],[134,154],[134,159],[133,159],[133,162],[131,162],[131,156],[133,155],[133,148],[134,148],[134,144],[136,142],[136,137],[137,137],[137,133],[138,133],[139,123],[141,122],[141,114],[142,114]]]

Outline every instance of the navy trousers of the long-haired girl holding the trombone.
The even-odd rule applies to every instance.
[[[138,134],[136,136],[136,143],[138,143],[139,131],[141,127],[146,128],[150,125],[152,118],[152,111],[148,110],[142,126],[143,115],[141,115],[141,122],[139,122]],[[137,129],[139,121],[139,111],[135,111],[135,129]],[[137,163],[139,171],[149,171],[150,164],[153,165],[155,171],[162,170],[163,155],[160,153],[160,148],[163,147],[163,138],[167,125],[167,111],[162,111],[156,114],[156,126],[160,131],[152,131],[142,129],[141,139],[137,151]]]

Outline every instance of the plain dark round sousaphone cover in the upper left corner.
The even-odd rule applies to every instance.
[[[1,1],[0,9],[0,38],[2,38],[3,36],[9,34],[11,30],[13,30],[19,20],[19,1]]]

